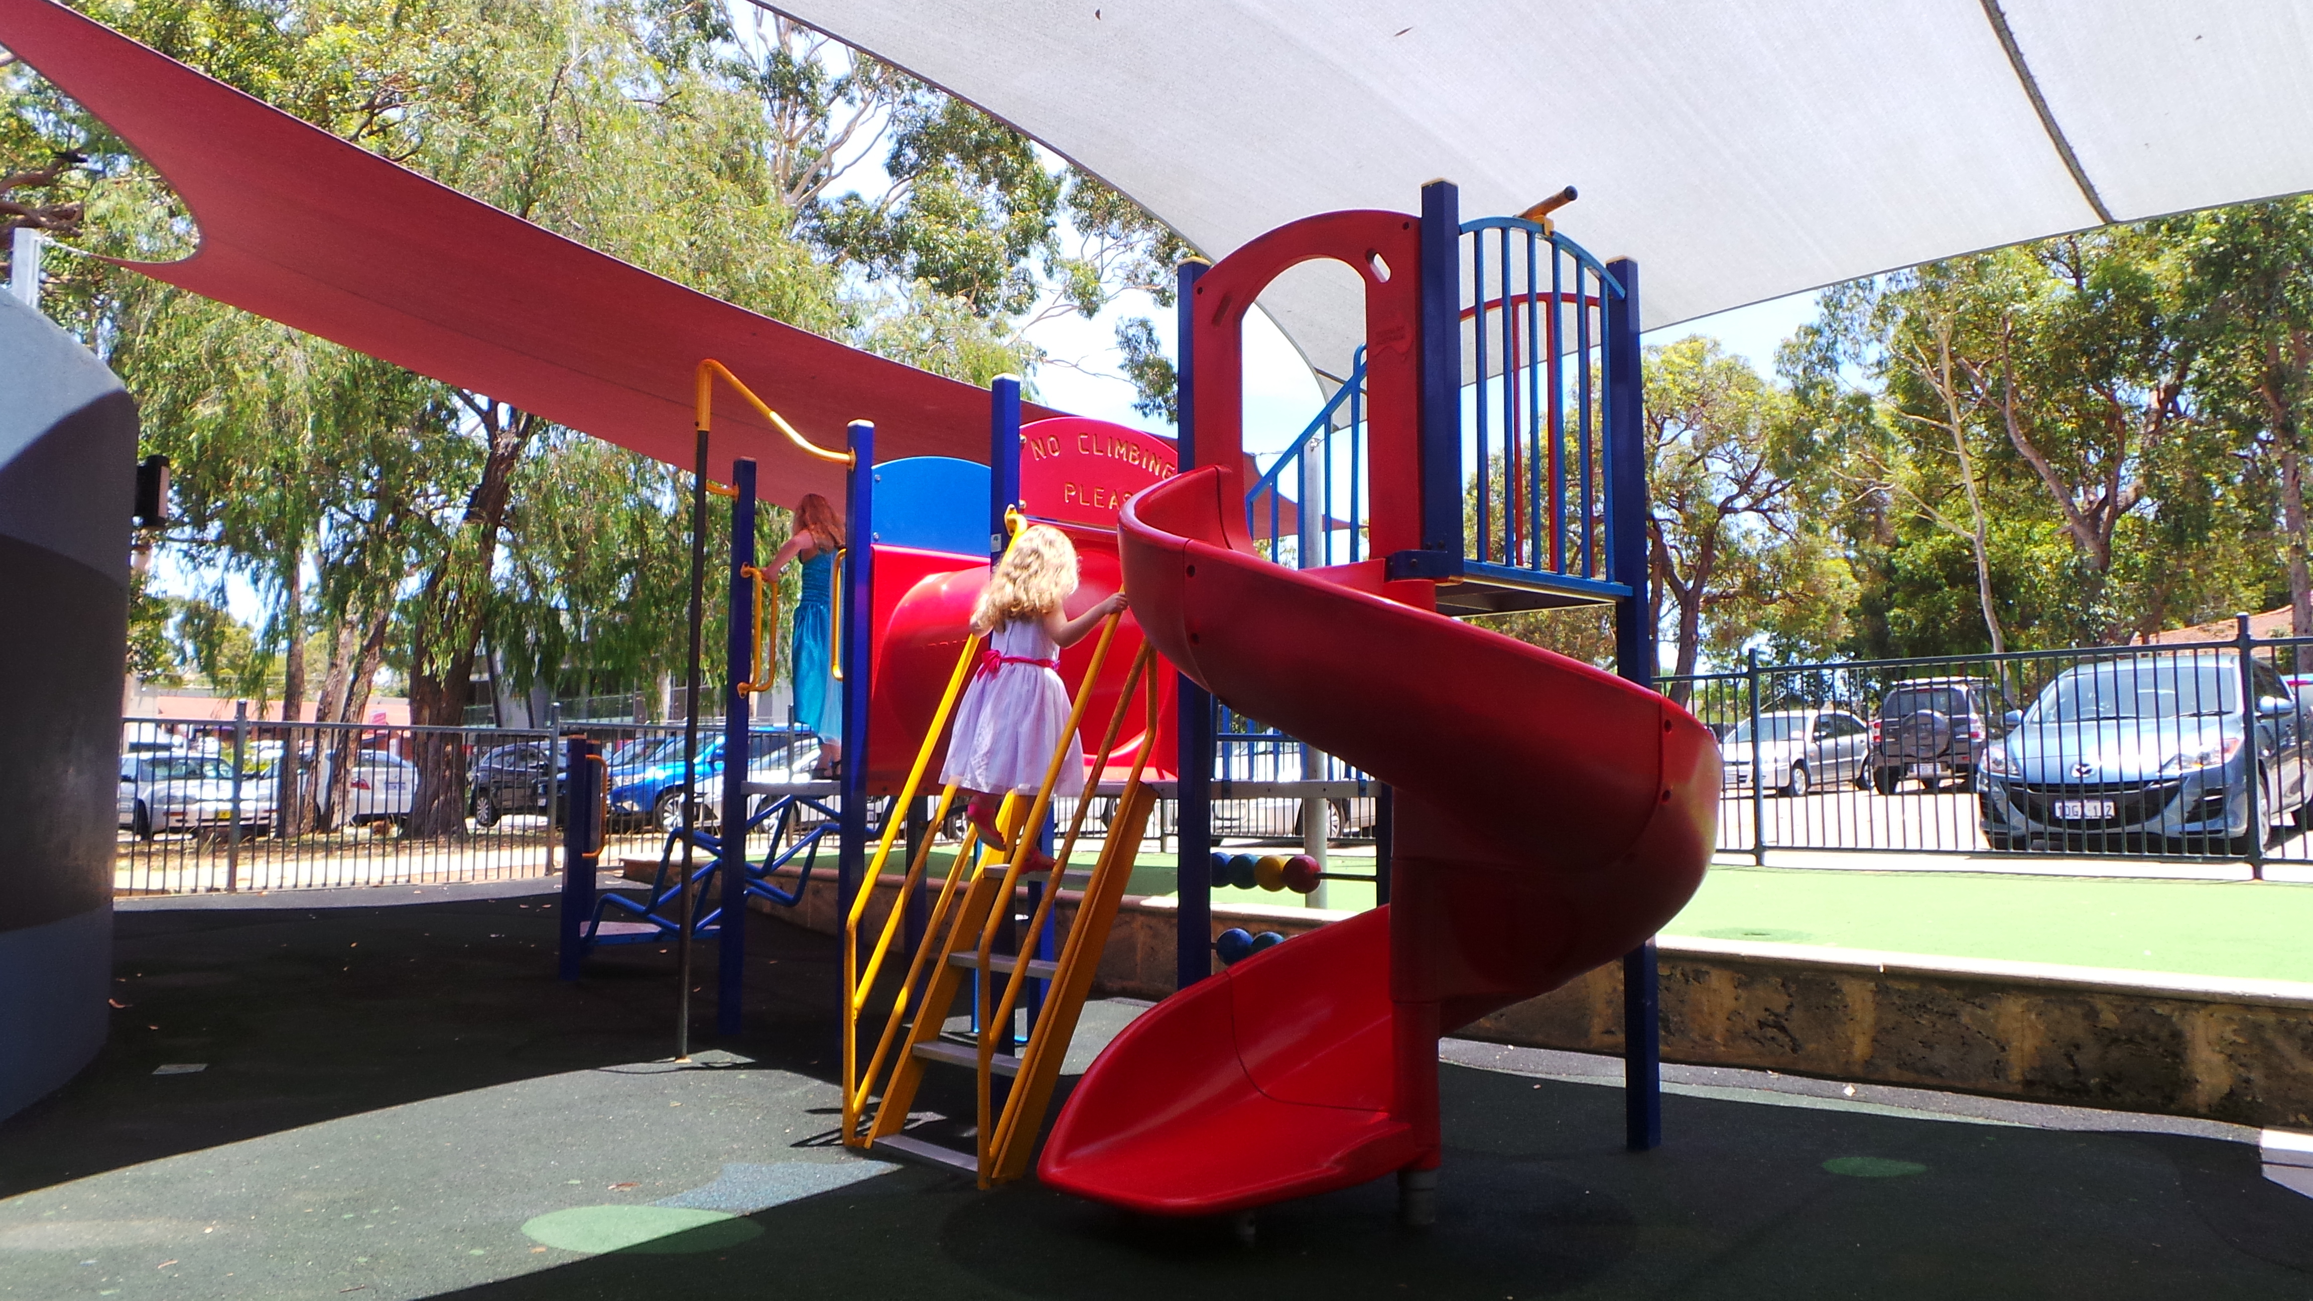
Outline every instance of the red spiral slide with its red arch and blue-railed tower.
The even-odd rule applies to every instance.
[[[1305,530],[1295,569],[1261,556],[1279,551],[1274,525],[1265,539],[1244,525],[1237,354],[1261,287],[1318,257],[1365,282],[1369,498],[1353,505],[1367,544],[1346,565],[1311,563],[1325,556]],[[1635,278],[1633,264],[1598,266],[1531,220],[1462,225],[1446,183],[1425,188],[1420,218],[1307,218],[1184,273],[1194,468],[1126,507],[1126,586],[1150,639],[1203,692],[1388,782],[1388,903],[1191,984],[1203,954],[1191,954],[1184,873],[1182,993],[1078,1083],[1039,1164],[1045,1183],[1154,1213],[1240,1213],[1397,1171],[1402,1213],[1427,1222],[1439,1035],[1619,954],[1633,991],[1628,1144],[1658,1141],[1638,1079],[1651,1070],[1647,944],[1702,877],[1719,755],[1645,683]],[[1561,319],[1580,340],[1573,384]],[[1464,322],[1478,340],[1471,373]],[[1476,546],[1464,377],[1476,389]],[[1307,442],[1295,451],[1311,454]],[[1621,604],[1624,667],[1640,681],[1441,613],[1596,600]],[[1191,815],[1182,822],[1187,850]]]

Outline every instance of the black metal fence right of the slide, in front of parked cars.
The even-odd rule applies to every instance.
[[[1719,850],[2313,861],[2313,639],[1661,678],[1721,738]],[[2253,738],[2253,741],[2251,741]]]

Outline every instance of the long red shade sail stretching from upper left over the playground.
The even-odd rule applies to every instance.
[[[877,458],[988,458],[988,394],[685,289],[365,153],[51,0],[0,0],[0,44],[120,132],[201,227],[134,271],[460,389],[692,463],[692,373],[724,361],[823,447],[877,424]],[[1055,414],[1032,407],[1027,419]],[[717,394],[712,465],[763,495],[837,495]],[[840,500],[840,498],[837,498]]]

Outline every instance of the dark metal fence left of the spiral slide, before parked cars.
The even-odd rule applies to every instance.
[[[680,826],[682,725],[571,722],[555,729],[396,727],[130,718],[123,727],[116,894],[271,891],[541,877],[560,870],[567,736],[611,759],[604,861],[657,861]],[[1249,738],[1251,741],[1251,738]],[[759,729],[752,780],[807,780],[816,738]],[[1321,776],[1339,764],[1316,757]],[[699,727],[699,799],[722,799],[722,722]],[[1240,748],[1221,778],[1298,780],[1298,743]],[[1092,796],[1087,831],[1113,796]],[[884,808],[888,801],[877,801]],[[1173,845],[1161,801],[1150,852]],[[1224,836],[1300,840],[1300,799],[1221,799]],[[1059,801],[1062,824],[1076,801]],[[1372,799],[1332,801],[1335,840],[1369,836]],[[955,840],[960,815],[934,838]],[[828,845],[833,852],[833,845]]]

